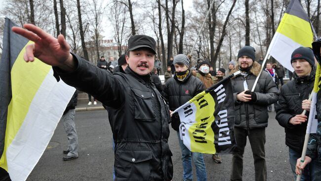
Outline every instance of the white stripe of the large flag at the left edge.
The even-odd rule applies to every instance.
[[[6,151],[12,181],[25,181],[45,151],[75,88],[52,76],[52,69],[33,98],[29,111]]]

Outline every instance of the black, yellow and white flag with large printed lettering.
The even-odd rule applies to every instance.
[[[179,132],[184,145],[193,152],[233,153],[234,100],[230,78],[225,78],[211,91],[203,91],[177,108]]]

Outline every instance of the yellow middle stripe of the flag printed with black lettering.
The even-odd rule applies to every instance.
[[[200,99],[200,96],[203,97]],[[215,111],[215,101],[213,99],[213,96],[210,93],[205,93],[203,91],[203,94],[198,94],[196,97],[194,97],[192,100],[194,101],[194,104],[196,105],[197,111],[196,111],[196,123],[191,125],[188,129],[190,138],[194,138],[195,140],[201,140],[200,137],[204,138],[206,140],[206,143],[200,143],[197,141],[191,141],[191,151],[193,152],[203,152],[203,153],[215,153],[215,145],[214,145],[214,132],[211,128],[212,122],[215,120],[215,117],[213,115]],[[205,106],[200,110],[200,107],[202,104],[200,100],[197,101],[196,99],[200,100],[206,100],[207,104],[209,106]],[[204,128],[206,127],[206,128]]]

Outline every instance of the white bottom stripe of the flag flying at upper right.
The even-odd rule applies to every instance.
[[[271,49],[269,48],[269,54],[278,60],[283,67],[293,72],[294,69],[291,65],[291,54],[295,49],[302,47],[302,45],[279,32],[275,33],[270,45],[272,46],[270,46]]]

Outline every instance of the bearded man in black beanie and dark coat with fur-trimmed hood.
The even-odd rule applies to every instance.
[[[261,65],[254,61],[255,49],[245,46],[238,53],[238,65],[232,70],[241,74],[232,78],[235,103],[234,134],[239,153],[233,154],[231,181],[241,181],[246,137],[254,158],[255,181],[266,181],[265,128],[268,126],[268,105],[278,100],[279,91],[268,72],[262,71],[253,92],[254,81]]]

